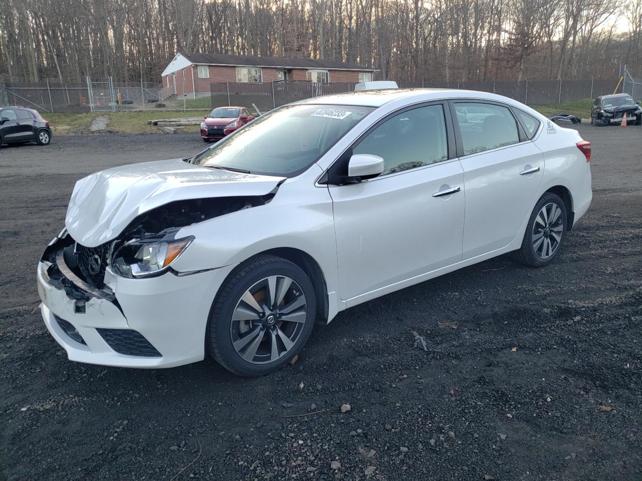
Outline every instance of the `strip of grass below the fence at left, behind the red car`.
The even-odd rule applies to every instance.
[[[198,99],[196,99],[198,100]],[[91,122],[100,115],[109,117],[107,131],[124,133],[158,133],[160,129],[147,123],[154,119],[184,119],[186,117],[203,117],[207,110],[191,112],[171,112],[169,110],[135,111],[135,112],[94,112],[93,114],[43,114],[51,122],[54,135],[71,135],[90,133]],[[197,132],[198,125],[186,126],[182,131]]]

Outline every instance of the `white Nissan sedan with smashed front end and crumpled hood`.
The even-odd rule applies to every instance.
[[[346,308],[508,252],[550,264],[591,203],[590,158],[493,94],[306,99],[193,158],[78,181],[42,317],[71,360],[269,373]]]

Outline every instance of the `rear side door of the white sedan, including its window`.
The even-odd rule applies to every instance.
[[[539,194],[544,155],[508,105],[451,101],[453,112],[462,108],[469,122],[454,114],[453,119],[466,190],[465,260],[501,249],[515,238]]]

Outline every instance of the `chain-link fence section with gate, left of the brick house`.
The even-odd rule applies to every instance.
[[[81,83],[0,83],[0,107],[21,105],[39,112],[147,110],[159,102],[160,83],[114,84],[111,78]]]

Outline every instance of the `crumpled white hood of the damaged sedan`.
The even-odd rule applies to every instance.
[[[65,226],[76,242],[96,247],[115,239],[137,215],[169,202],[265,196],[282,180],[200,167],[180,159],[115,167],[76,182]]]

